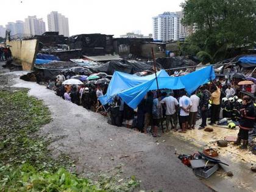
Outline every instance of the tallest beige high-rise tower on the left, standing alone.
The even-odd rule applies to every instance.
[[[59,32],[60,35],[69,37],[68,18],[58,12],[51,12],[47,16],[49,31]]]

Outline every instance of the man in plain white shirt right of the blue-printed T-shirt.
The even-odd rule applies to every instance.
[[[191,102],[192,102],[192,106],[190,108],[190,129],[194,129],[194,126],[196,125],[196,116],[197,116],[197,111],[198,111],[200,98],[194,92],[190,96],[190,99],[191,99]]]

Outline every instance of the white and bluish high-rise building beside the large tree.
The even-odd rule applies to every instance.
[[[177,41],[187,37],[186,27],[182,25],[182,12],[164,12],[153,19],[153,38],[155,40]]]

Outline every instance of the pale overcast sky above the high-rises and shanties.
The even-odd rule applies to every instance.
[[[69,35],[101,33],[119,37],[133,30],[148,35],[152,33],[152,16],[180,11],[181,2],[183,0],[1,0],[0,25],[37,15],[43,18],[47,30],[48,13],[57,11],[68,17]]]

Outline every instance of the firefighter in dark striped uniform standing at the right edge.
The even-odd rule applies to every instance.
[[[254,128],[254,121],[255,121],[255,108],[254,102],[249,96],[243,97],[243,103],[240,109],[240,121],[239,121],[239,132],[237,139],[235,141],[235,145],[240,145],[241,141],[243,144],[240,146],[241,149],[247,149],[248,146],[248,137],[249,137],[249,130]]]

